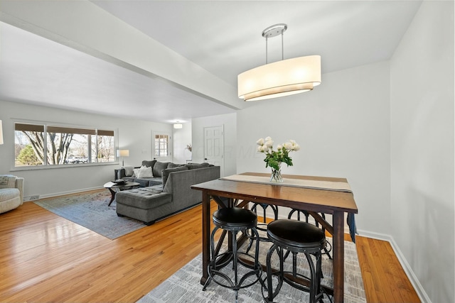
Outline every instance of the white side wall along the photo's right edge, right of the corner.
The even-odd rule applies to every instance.
[[[390,64],[392,237],[432,302],[454,302],[454,2],[424,1]]]

